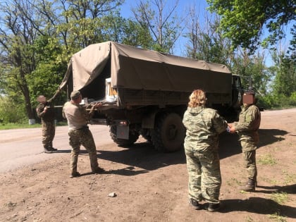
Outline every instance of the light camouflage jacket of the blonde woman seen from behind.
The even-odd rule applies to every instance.
[[[186,128],[185,143],[190,142],[197,149],[218,147],[218,135],[227,128],[227,122],[216,110],[202,106],[188,107],[183,124]]]

